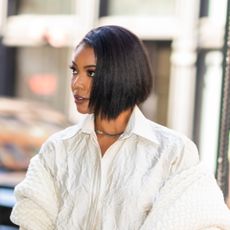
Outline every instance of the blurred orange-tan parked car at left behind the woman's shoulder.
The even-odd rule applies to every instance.
[[[9,220],[13,190],[31,157],[51,134],[68,125],[63,114],[43,104],[0,97],[0,230],[14,226]]]

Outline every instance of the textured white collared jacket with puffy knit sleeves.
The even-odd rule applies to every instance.
[[[26,230],[230,230],[230,212],[186,137],[135,107],[103,158],[94,117],[52,136],[15,189]]]

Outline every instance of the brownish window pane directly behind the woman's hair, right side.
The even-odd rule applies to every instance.
[[[171,43],[144,41],[144,45],[153,71],[153,91],[141,109],[150,120],[167,125]]]

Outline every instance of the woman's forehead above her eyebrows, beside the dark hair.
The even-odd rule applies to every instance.
[[[84,43],[80,44],[74,50],[73,61],[76,64],[78,62],[87,62],[90,64],[96,64],[96,57],[93,48]]]

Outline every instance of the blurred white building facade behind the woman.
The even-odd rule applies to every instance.
[[[42,101],[78,122],[72,50],[92,27],[117,24],[149,52],[150,119],[184,133],[216,170],[227,0],[2,0],[0,94]]]

